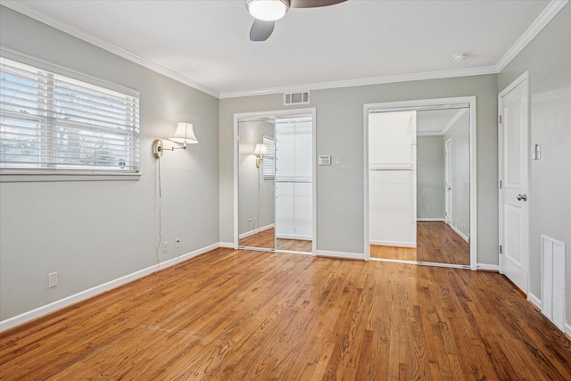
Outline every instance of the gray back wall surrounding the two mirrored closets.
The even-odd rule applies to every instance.
[[[498,263],[497,75],[311,91],[317,109],[316,154],[343,156],[317,172],[318,250],[363,253],[363,104],[476,95],[478,253]],[[233,241],[233,115],[285,109],[283,95],[221,99],[219,109],[220,240]]]

